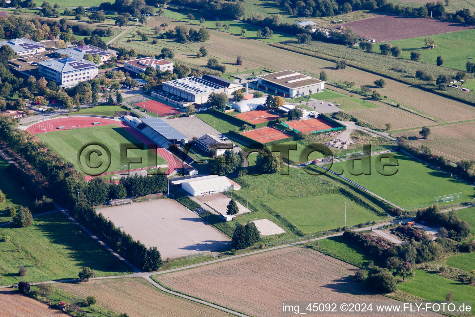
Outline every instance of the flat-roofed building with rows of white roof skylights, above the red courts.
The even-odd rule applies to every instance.
[[[211,93],[224,93],[225,87],[196,76],[174,79],[161,84],[161,89],[167,93],[179,96],[195,104],[208,102]]]

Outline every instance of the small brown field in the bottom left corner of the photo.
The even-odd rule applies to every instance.
[[[68,317],[57,309],[36,299],[21,295],[13,289],[0,290],[0,316],[8,317]]]

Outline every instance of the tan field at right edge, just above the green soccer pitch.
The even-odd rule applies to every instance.
[[[427,139],[420,138],[420,128],[395,132],[394,137],[405,134],[409,137],[409,144],[419,147],[427,145],[432,152],[443,155],[451,161],[461,159],[475,159],[473,148],[475,137],[473,134],[474,121],[461,122],[452,125],[435,125],[430,127],[431,134]]]

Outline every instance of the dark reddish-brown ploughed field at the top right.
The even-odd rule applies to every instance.
[[[402,38],[417,38],[440,33],[472,29],[459,23],[408,16],[376,15],[367,19],[343,24],[354,29],[361,38],[374,38],[377,42]]]

